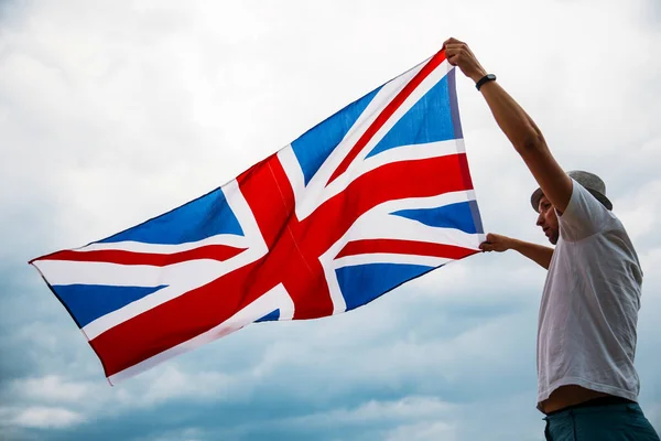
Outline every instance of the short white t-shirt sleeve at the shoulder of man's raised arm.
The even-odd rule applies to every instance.
[[[585,239],[602,233],[614,216],[583,185],[572,180],[572,197],[562,215],[559,214],[560,236],[568,241]]]

